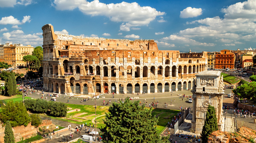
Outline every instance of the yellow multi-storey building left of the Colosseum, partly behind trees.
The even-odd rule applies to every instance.
[[[4,45],[4,62],[12,65],[12,68],[17,66],[27,66],[27,62],[23,61],[23,56],[32,55],[34,47],[31,45],[23,46],[22,44]]]

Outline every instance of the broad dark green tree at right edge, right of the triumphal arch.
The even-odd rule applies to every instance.
[[[248,84],[243,84],[236,89],[233,89],[233,92],[240,98],[247,98],[256,100],[256,82],[250,82]]]

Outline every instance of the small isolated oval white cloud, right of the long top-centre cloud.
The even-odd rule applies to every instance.
[[[202,8],[191,8],[187,7],[181,11],[181,18],[197,17],[202,15]]]

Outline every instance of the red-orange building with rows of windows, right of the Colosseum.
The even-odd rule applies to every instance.
[[[231,50],[221,50],[221,54],[215,54],[215,69],[234,69],[235,54]]]

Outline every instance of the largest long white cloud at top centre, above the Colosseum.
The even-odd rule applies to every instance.
[[[52,4],[58,10],[73,10],[78,8],[81,12],[91,16],[105,16],[113,22],[122,22],[121,31],[130,31],[131,27],[148,25],[157,16],[165,12],[157,11],[148,6],[141,7],[138,3],[100,3],[99,0],[54,0]]]

